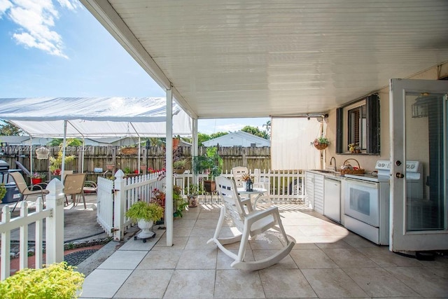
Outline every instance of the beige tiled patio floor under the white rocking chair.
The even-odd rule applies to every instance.
[[[154,239],[126,242],[85,278],[80,298],[448,298],[447,256],[400,256],[300,205],[278,206],[296,244],[277,265],[232,269],[232,260],[207,244],[219,205],[202,204],[174,221],[174,246],[157,226]],[[246,258],[277,246],[267,233],[251,240]]]

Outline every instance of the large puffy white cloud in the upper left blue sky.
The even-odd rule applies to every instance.
[[[57,3],[61,8],[69,10],[80,7],[76,0],[57,0]],[[52,0],[0,0],[1,13],[5,13],[19,25],[20,28],[13,34],[13,39],[19,44],[68,58],[64,54],[62,37],[52,29],[55,27],[55,20],[59,18],[59,12]]]

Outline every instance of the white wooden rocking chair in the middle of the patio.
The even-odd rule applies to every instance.
[[[231,264],[232,267],[250,271],[260,270],[265,267],[270,267],[278,263],[282,258],[288,256],[295,242],[288,239],[281,224],[277,207],[273,206],[264,210],[253,211],[250,200],[241,200],[239,197],[236,191],[237,184],[235,181],[227,179],[224,176],[218,176],[216,178],[216,190],[218,190],[218,195],[221,197],[223,207],[221,207],[221,214],[216,225],[214,237],[209,239],[207,244],[214,242],[223,253],[233,258],[235,261]],[[226,218],[232,220],[241,232],[240,235],[234,237],[219,237]],[[244,256],[248,247],[249,237],[259,235],[271,228],[281,233],[284,239],[283,242],[286,243],[283,249],[279,249],[272,256],[263,258],[262,260],[246,261]],[[226,244],[235,242],[240,242],[237,254],[225,248]]]

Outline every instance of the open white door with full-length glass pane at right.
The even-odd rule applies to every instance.
[[[391,251],[448,249],[448,81],[390,81]],[[406,177],[421,161],[423,178]],[[411,186],[412,185],[412,186]],[[423,188],[416,193],[415,188]]]

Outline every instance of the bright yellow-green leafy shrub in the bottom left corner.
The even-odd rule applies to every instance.
[[[71,299],[78,298],[84,282],[84,274],[66,262],[46,265],[42,269],[18,271],[0,281],[0,298],[3,299]]]

